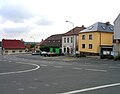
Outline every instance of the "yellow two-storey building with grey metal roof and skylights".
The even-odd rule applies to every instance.
[[[97,22],[79,33],[78,50],[81,54],[99,55],[112,50],[113,25]]]

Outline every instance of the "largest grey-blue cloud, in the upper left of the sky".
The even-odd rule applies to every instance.
[[[24,19],[30,19],[34,16],[22,5],[4,5],[0,8],[0,16],[5,20],[14,22],[23,22]]]

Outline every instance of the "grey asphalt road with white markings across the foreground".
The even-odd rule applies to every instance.
[[[0,55],[0,94],[120,94],[120,61]]]

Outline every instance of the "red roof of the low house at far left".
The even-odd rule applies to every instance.
[[[20,40],[2,40],[2,47],[4,49],[25,49],[24,43]]]

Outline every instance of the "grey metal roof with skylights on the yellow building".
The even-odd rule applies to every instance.
[[[113,32],[113,30],[114,30],[114,26],[111,25],[109,22],[106,22],[106,23],[97,22],[97,23],[87,27],[86,29],[82,30],[80,33],[82,33],[82,32],[95,32],[95,31]]]

